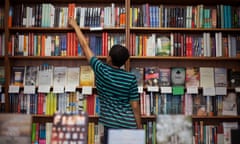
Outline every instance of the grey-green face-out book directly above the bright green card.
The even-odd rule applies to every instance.
[[[173,86],[185,85],[186,69],[183,67],[171,68],[171,83]]]

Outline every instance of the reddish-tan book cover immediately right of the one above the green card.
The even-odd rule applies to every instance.
[[[186,68],[186,87],[199,87],[200,74],[198,67],[187,67]]]

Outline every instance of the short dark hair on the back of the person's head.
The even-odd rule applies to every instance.
[[[109,51],[114,66],[121,67],[129,58],[129,51],[125,46],[120,44],[113,45]]]

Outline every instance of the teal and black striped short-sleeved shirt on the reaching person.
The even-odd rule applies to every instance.
[[[110,128],[137,128],[130,105],[130,101],[139,100],[136,76],[96,57],[91,58],[90,65],[100,100],[99,122]]]

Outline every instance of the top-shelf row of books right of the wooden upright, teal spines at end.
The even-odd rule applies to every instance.
[[[168,6],[149,3],[130,8],[133,27],[236,28],[240,27],[239,7],[216,5]]]

